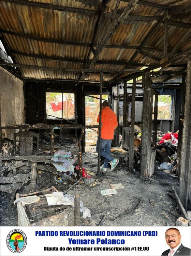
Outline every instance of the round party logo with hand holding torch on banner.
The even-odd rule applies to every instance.
[[[6,238],[6,244],[13,253],[23,252],[27,245],[26,234],[20,229],[14,229],[9,232]]]

